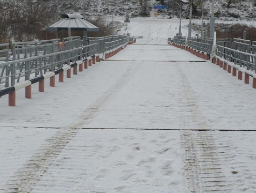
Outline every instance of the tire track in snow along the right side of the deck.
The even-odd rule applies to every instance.
[[[181,77],[182,91],[185,93],[191,120],[196,123],[198,127],[196,129],[208,129],[209,126],[204,120],[186,75],[179,65],[176,65],[176,70]],[[186,127],[186,118],[181,121],[184,121],[183,125]],[[182,174],[185,192],[225,192],[225,176],[222,173],[218,148],[211,132],[181,131],[180,138],[183,149]]]

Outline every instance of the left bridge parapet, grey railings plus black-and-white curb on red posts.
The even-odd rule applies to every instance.
[[[0,96],[9,94],[10,106],[15,106],[15,90],[18,88],[26,87],[26,98],[31,98],[32,84],[39,82],[39,91],[44,92],[45,78],[50,78],[50,86],[54,86],[55,75],[59,74],[59,81],[63,81],[63,71],[66,70],[67,77],[70,78],[71,68],[74,69],[76,75],[77,67],[79,67],[79,71],[83,71],[83,66],[87,69],[88,65],[91,66],[92,63],[95,64],[100,61],[99,54],[105,57],[105,54],[108,53],[108,57],[111,57],[125,48],[129,42],[128,36],[121,35],[87,38],[83,41],[78,36],[62,39],[62,42],[57,40],[58,51],[54,50],[53,53],[39,55],[37,52],[38,44],[31,46],[31,42],[30,44],[25,42],[25,44],[29,44],[29,46],[26,44],[25,49],[23,47],[17,49],[18,46],[15,49],[15,51],[25,51],[25,57],[9,62],[6,59],[6,62],[0,63]],[[49,40],[44,42],[49,42]],[[22,43],[24,44],[24,42]],[[55,43],[51,46],[53,45]],[[44,48],[46,49],[46,46]],[[7,50],[9,51],[9,49]],[[27,50],[30,50],[29,53],[36,50],[34,53],[38,55],[28,55]],[[17,54],[17,56],[21,55]]]

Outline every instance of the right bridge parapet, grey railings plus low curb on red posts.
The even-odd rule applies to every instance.
[[[252,87],[256,88],[256,41],[243,39],[215,39],[202,37],[174,36],[168,43],[188,50],[190,53],[205,60],[211,60],[219,67],[232,72],[233,76],[242,79],[244,73],[245,84],[253,78]]]

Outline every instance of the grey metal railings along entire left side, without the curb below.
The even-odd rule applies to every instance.
[[[115,49],[127,42],[127,36],[117,35],[86,38],[83,41],[80,36],[76,36],[64,38],[62,42],[60,39],[55,39],[40,41],[40,43],[38,41],[15,43],[16,47],[13,50],[17,56],[16,60],[0,63],[0,87],[9,87],[22,80],[30,80],[47,71],[58,70],[63,64],[69,65],[70,62]],[[51,49],[48,49],[49,46]],[[47,53],[47,50],[50,53]],[[20,58],[21,56],[23,57]]]

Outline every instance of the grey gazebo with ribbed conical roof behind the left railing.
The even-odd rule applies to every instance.
[[[68,36],[71,36],[71,31],[84,31],[84,36],[88,32],[98,32],[98,27],[85,20],[80,13],[61,14],[61,20],[46,28],[46,31],[58,32],[61,30],[68,30]]]

